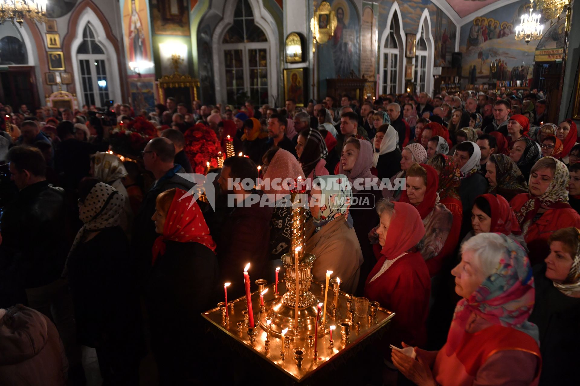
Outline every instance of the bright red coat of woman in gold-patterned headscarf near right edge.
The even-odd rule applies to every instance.
[[[521,193],[512,198],[510,206],[514,213],[517,213],[527,201],[528,194]],[[521,226],[522,224],[520,224]],[[528,231],[524,234],[524,240],[530,250],[528,257],[532,266],[541,263],[543,259],[548,257],[550,253],[548,245],[550,234],[570,226],[580,228],[580,215],[572,207],[548,209],[541,218],[528,227]]]

